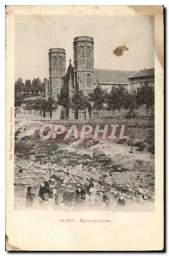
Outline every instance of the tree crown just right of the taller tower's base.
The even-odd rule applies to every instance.
[[[89,101],[93,103],[93,109],[102,110],[105,102],[104,90],[98,85],[93,92],[89,93]]]

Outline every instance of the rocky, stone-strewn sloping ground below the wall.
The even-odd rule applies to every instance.
[[[93,140],[41,141],[37,130],[42,122],[17,120],[15,123],[15,208],[25,208],[25,195],[32,186],[36,197],[30,209],[57,210],[154,210],[154,155],[127,144]],[[42,202],[38,197],[40,184],[53,179],[59,205],[53,200]],[[74,191],[78,186],[93,181],[99,203],[85,202],[72,207],[62,203],[64,191]],[[110,200],[107,208],[103,195]],[[123,197],[125,207],[117,207]]]

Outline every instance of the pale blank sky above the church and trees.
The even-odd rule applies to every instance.
[[[154,19],[142,15],[17,15],[15,80],[48,78],[48,50],[66,50],[73,60],[73,39],[94,38],[94,68],[138,71],[154,68]],[[117,47],[125,46],[117,56]],[[73,64],[73,61],[72,61]]]

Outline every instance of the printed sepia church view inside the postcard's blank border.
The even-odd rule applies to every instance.
[[[154,73],[152,15],[17,16],[14,207],[154,210]]]

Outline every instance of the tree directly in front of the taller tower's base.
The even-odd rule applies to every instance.
[[[89,105],[89,97],[84,95],[82,91],[76,91],[76,93],[71,98],[71,108],[75,112],[75,119],[78,119],[78,111],[80,112],[81,118],[81,110],[89,108]]]

